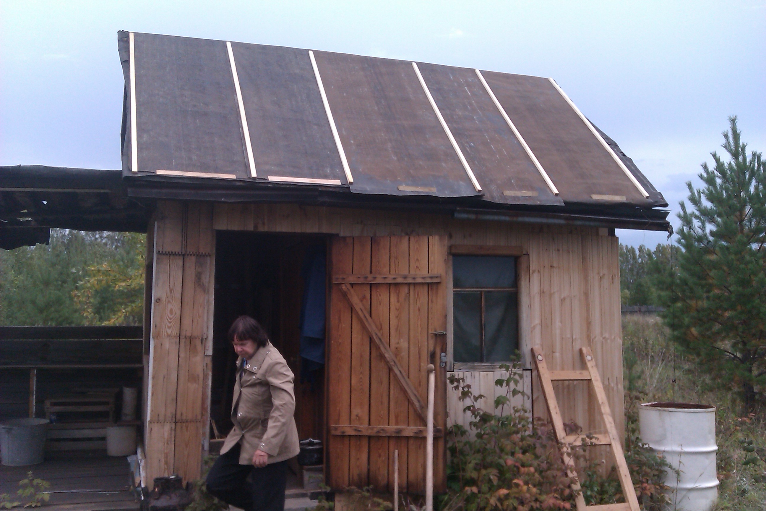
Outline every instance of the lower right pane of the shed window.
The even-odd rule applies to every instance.
[[[484,292],[484,361],[507,362],[519,347],[516,291]]]

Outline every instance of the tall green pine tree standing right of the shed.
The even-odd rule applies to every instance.
[[[766,169],[741,142],[736,117],[724,132],[725,161],[702,164],[701,189],[681,202],[677,271],[658,267],[671,336],[719,382],[736,385],[753,410],[766,383]],[[659,266],[659,265],[658,265]]]

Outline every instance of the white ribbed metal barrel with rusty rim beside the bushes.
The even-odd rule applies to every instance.
[[[718,500],[715,473],[715,406],[644,403],[638,410],[641,439],[676,470],[666,473],[669,509],[709,511]]]

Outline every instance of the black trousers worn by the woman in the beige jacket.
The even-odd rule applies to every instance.
[[[240,444],[215,460],[205,483],[208,493],[245,511],[283,511],[287,461],[257,468],[239,464]],[[252,483],[247,476],[252,473]]]

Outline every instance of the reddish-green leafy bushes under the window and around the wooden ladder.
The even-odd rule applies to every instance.
[[[519,391],[521,365],[502,366],[509,372],[495,385],[506,390],[506,395],[495,399],[494,411],[479,408],[476,403],[483,395],[473,395],[464,378],[450,376],[450,385],[460,391],[459,399],[466,404],[464,411],[471,414],[470,432],[460,424],[450,427],[450,460],[448,493],[442,497],[441,509],[574,509],[575,493],[561,461],[558,443],[551,427],[541,420],[532,424],[529,410],[511,407],[511,398],[522,395]],[[634,490],[646,511],[658,511],[669,498],[663,484],[669,464],[644,444],[638,432],[637,403],[640,395],[633,393],[627,403],[627,434],[625,460]],[[534,427],[533,427],[534,426]],[[565,424],[568,434],[581,432],[577,424]],[[624,502],[617,471],[613,468],[606,476],[602,467],[588,461],[588,449],[593,437],[583,435],[583,447],[571,450],[581,474],[581,491],[589,505]]]

